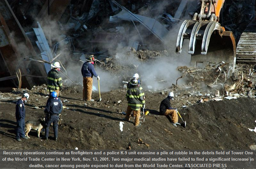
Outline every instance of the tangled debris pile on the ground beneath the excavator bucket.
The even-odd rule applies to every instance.
[[[183,75],[177,79],[174,88],[198,91],[195,95],[202,98],[203,96],[227,99],[256,97],[256,70],[253,69],[253,66],[239,64],[232,72],[226,66],[226,63],[222,62],[215,67],[207,66],[205,69],[179,66],[177,70],[182,72]],[[181,78],[185,79],[186,85],[179,85],[179,79]],[[203,95],[200,91],[206,94]],[[208,99],[204,101],[208,101]]]

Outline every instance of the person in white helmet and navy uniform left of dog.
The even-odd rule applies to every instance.
[[[24,102],[27,102],[29,99],[29,94],[24,93],[17,101],[16,104],[16,112],[15,112],[15,117],[17,121],[17,128],[16,128],[16,140],[21,141],[21,138],[28,139],[28,137],[25,136],[25,104]]]

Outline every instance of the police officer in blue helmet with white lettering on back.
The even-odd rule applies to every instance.
[[[55,141],[58,138],[58,119],[59,114],[62,111],[62,102],[57,97],[57,93],[55,91],[51,92],[50,98],[47,100],[45,107],[45,139],[48,140],[49,136],[49,127],[51,123],[53,123],[53,131]]]

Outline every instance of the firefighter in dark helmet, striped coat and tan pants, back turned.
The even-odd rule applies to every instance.
[[[143,93],[140,90],[140,84],[137,79],[132,80],[132,88],[127,90],[126,98],[128,101],[127,111],[125,120],[129,121],[131,117],[131,112],[133,111],[133,116],[135,116],[134,125],[136,127],[141,126],[141,107],[145,108],[145,100],[143,98]]]

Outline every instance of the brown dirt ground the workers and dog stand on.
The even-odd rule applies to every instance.
[[[65,88],[60,94],[66,108],[62,111],[57,142],[53,140],[52,128],[48,141],[38,138],[37,132],[31,130],[30,139],[17,142],[15,102],[24,91],[30,94],[25,104],[26,120],[44,116],[45,86],[1,93],[1,149],[255,149],[256,133],[248,130],[256,126],[254,98],[209,99],[211,101],[199,103],[201,96],[192,96],[191,91],[182,90],[171,104],[186,121],[184,128],[172,126],[170,119],[158,113],[159,104],[168,91],[145,90],[146,109],[150,113],[144,122],[141,119],[141,127],[134,127],[133,119],[131,122],[123,120],[127,107],[126,89],[101,93],[100,102],[97,101],[98,93],[93,92],[92,98],[96,101],[85,106],[79,86]],[[124,122],[123,132],[119,129],[121,121]],[[180,118],[179,122],[182,122]]]

